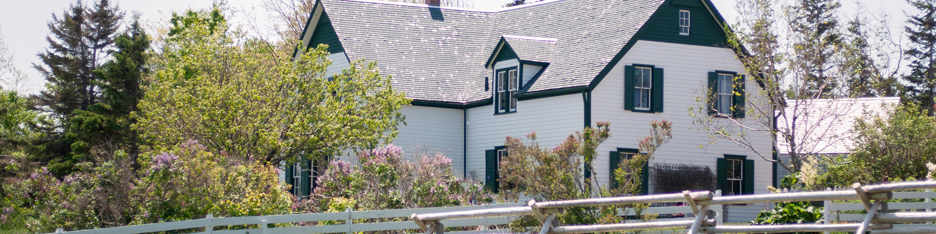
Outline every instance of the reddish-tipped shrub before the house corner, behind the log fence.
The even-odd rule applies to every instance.
[[[522,194],[534,197],[538,201],[550,201],[638,194],[640,170],[656,149],[672,138],[672,123],[651,123],[651,136],[638,142],[640,150],[647,154],[638,154],[630,160],[622,160],[622,167],[617,168],[614,175],[610,176],[618,181],[619,186],[616,188],[607,187],[583,176],[581,168],[592,168],[595,149],[611,136],[609,123],[598,122],[596,126],[570,134],[558,147],[551,150],[542,148],[539,142],[535,141],[535,133],[526,136],[529,140],[527,142],[507,137],[505,146],[508,154],[501,158],[500,164],[499,196],[507,200],[517,200]],[[645,204],[638,204],[572,208],[556,218],[567,225],[619,223],[623,218],[617,215],[618,208],[635,209],[639,213],[646,207],[648,206]],[[528,218],[519,219],[513,222],[512,226],[515,231],[532,231],[528,228],[534,224],[538,223]]]

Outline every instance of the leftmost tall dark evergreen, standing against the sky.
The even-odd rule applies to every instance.
[[[74,164],[86,159],[82,152],[90,146],[66,136],[76,124],[70,119],[76,110],[89,110],[101,99],[102,78],[95,73],[107,58],[114,37],[120,28],[123,11],[108,0],[88,6],[80,1],[70,5],[61,16],[52,14],[48,23],[51,36],[49,48],[37,55],[42,65],[34,67],[46,78],[46,90],[34,96],[41,110],[55,117],[52,127],[45,129],[46,138],[34,149],[33,160],[49,162],[49,168],[59,176],[74,170]],[[87,124],[87,123],[84,123]],[[99,123],[100,124],[100,123]]]

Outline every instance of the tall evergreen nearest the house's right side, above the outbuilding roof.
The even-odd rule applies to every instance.
[[[789,14],[793,31],[794,58],[790,63],[795,76],[805,79],[802,85],[807,90],[794,98],[831,97],[839,83],[837,54],[841,46],[838,29],[838,0],[801,0],[791,7]]]

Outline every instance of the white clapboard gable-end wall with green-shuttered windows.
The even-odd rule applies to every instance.
[[[633,64],[652,65],[664,69],[664,111],[643,113],[624,110],[624,66]],[[709,137],[702,130],[693,129],[690,107],[698,107],[696,96],[707,89],[709,71],[726,70],[743,73],[743,66],[734,52],[724,48],[692,46],[655,41],[637,41],[624,55],[604,80],[592,91],[592,122],[610,122],[611,138],[599,146],[595,160],[595,173],[600,183],[608,180],[608,152],[616,148],[636,149],[637,140],[650,135],[650,123],[654,120],[673,122],[673,139],[656,151],[652,163],[688,164],[709,166],[716,170],[716,158],[724,154],[747,155],[755,161],[754,193],[768,193],[771,185],[770,163],[739,147],[734,142],[720,140],[709,144]],[[749,79],[750,80],[750,79]],[[748,83],[747,94],[756,95],[756,87]],[[752,98],[752,97],[749,97]],[[771,152],[771,139],[762,134],[747,136],[763,153]],[[701,146],[701,147],[700,147]],[[651,182],[652,190],[652,182]],[[752,220],[767,204],[726,207],[728,222]]]

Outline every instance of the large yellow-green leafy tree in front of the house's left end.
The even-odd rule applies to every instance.
[[[159,147],[197,139],[213,152],[276,165],[396,136],[409,100],[375,63],[333,77],[325,46],[295,63],[227,26],[221,8],[173,16],[139,130]]]

